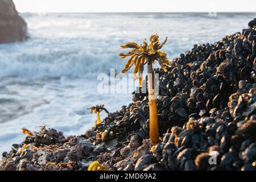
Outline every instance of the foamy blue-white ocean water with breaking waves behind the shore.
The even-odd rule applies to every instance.
[[[0,44],[0,152],[22,142],[22,127],[53,127],[80,135],[94,125],[87,109],[105,104],[109,111],[131,102],[131,94],[101,94],[100,73],[118,73],[117,54],[126,42],[141,43],[158,32],[168,36],[169,59],[193,44],[214,43],[247,27],[256,14],[21,14],[30,39]],[[106,116],[101,113],[101,118]]]

